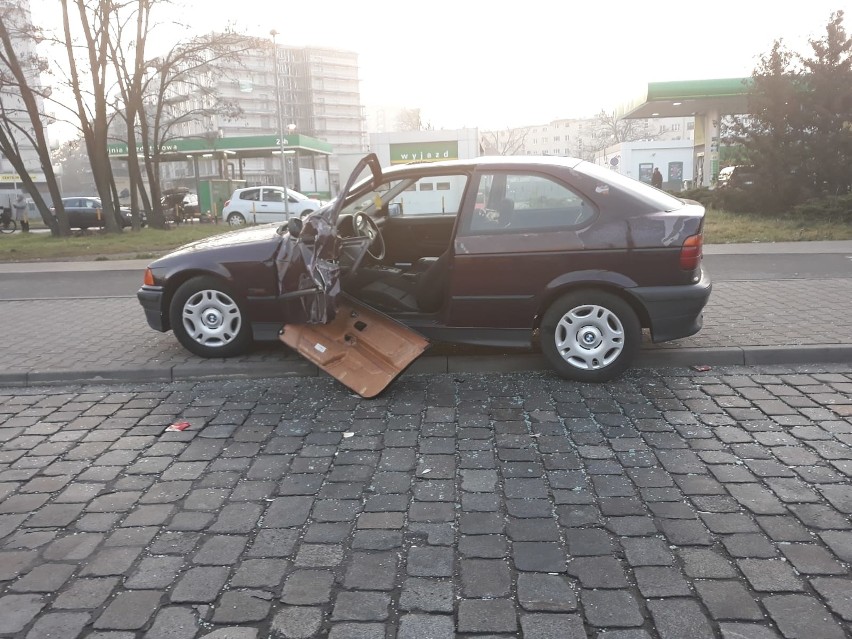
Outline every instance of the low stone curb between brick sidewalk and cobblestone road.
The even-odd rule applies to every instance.
[[[716,348],[645,348],[634,368],[689,366],[761,366],[791,364],[850,364],[852,345],[748,346]],[[403,375],[434,373],[510,373],[548,370],[538,353],[505,355],[432,355],[421,357]],[[281,361],[176,364],[165,368],[85,369],[58,371],[7,371],[0,386],[29,387],[74,384],[170,383],[221,379],[317,377],[322,372],[296,358]]]

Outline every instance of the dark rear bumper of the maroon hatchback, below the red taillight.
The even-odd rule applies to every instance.
[[[704,306],[713,285],[702,270],[701,279],[687,286],[649,286],[630,289],[650,321],[651,339],[667,342],[695,335],[704,323]]]

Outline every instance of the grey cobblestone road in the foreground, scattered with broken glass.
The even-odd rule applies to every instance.
[[[0,442],[3,636],[852,634],[849,365],[0,389]]]

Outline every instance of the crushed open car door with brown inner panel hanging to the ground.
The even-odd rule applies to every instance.
[[[353,187],[365,169],[371,172],[368,186],[378,184],[381,167],[370,154],[352,171],[333,206],[304,220],[291,218],[276,266],[289,320],[281,329],[281,341],[359,395],[374,397],[426,350],[428,342],[341,291],[342,242],[336,225],[344,203],[357,195]],[[352,239],[359,238],[346,241]],[[366,250],[370,242],[360,238],[361,248]]]

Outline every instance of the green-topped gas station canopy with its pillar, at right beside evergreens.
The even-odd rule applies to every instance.
[[[719,174],[719,128],[723,117],[748,113],[751,78],[651,82],[622,106],[625,119],[695,117],[693,184],[709,186]]]

